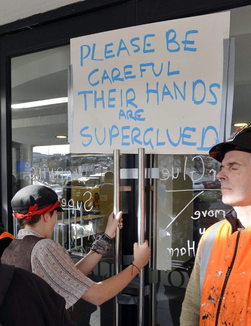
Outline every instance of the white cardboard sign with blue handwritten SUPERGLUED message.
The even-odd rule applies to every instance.
[[[71,39],[72,153],[206,154],[218,142],[230,12]]]

